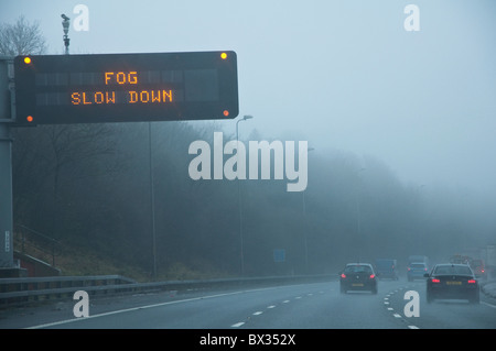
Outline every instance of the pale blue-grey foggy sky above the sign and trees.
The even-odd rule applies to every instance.
[[[0,22],[37,21],[47,54],[63,54],[61,13],[75,19],[79,3],[89,31],[71,28],[72,54],[236,51],[240,116],[255,117],[244,138],[306,140],[374,155],[425,189],[496,194],[494,1],[0,0]],[[409,3],[419,32],[403,29]]]

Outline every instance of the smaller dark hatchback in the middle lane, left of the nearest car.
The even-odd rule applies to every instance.
[[[341,273],[341,293],[370,290],[377,294],[377,276],[369,263],[348,263]]]

